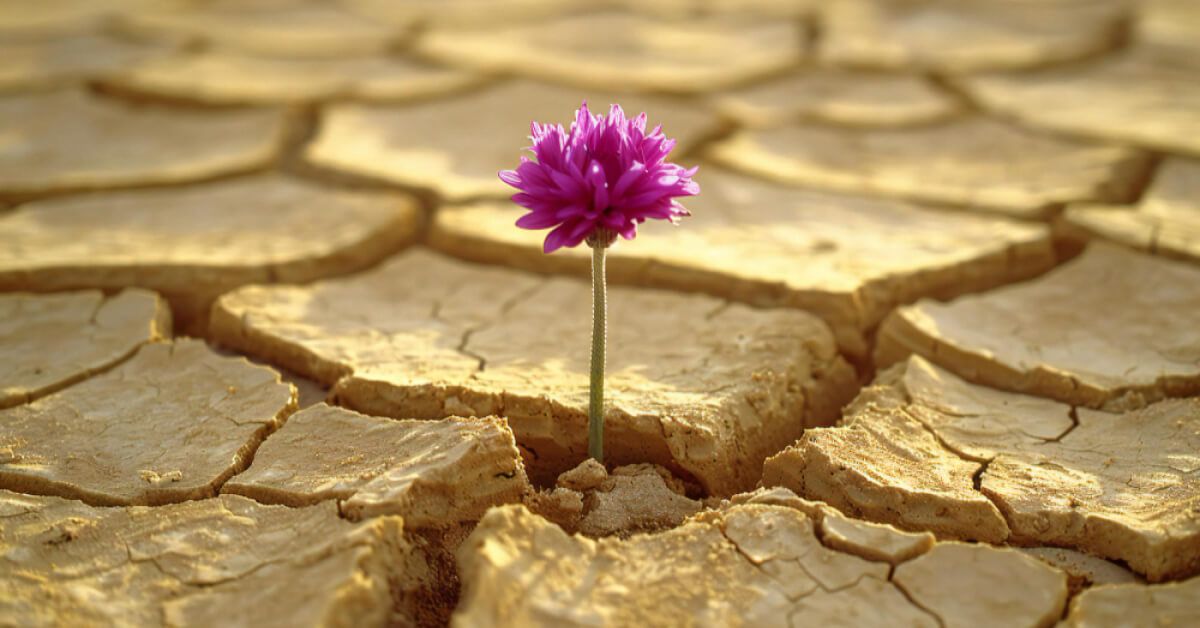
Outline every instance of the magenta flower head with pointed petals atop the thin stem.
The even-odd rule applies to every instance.
[[[534,160],[522,156],[500,180],[521,190],[512,201],[529,210],[517,220],[526,229],[554,229],[545,252],[577,246],[596,229],[626,240],[646,219],[677,222],[688,210],[676,197],[700,193],[696,168],[666,161],[676,140],[656,126],[646,132],[646,114],[625,119],[613,104],[608,116],[592,115],[587,101],[575,112],[571,131],[532,124]]]

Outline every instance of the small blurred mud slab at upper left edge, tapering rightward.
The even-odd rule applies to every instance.
[[[160,46],[131,43],[100,35],[0,44],[0,91],[46,88],[101,78],[166,53]]]

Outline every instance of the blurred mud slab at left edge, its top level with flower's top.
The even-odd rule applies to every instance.
[[[275,109],[198,112],[131,106],[77,90],[0,97],[0,196],[178,184],[253,171],[275,159]]]

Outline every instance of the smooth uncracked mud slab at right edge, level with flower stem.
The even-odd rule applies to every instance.
[[[1120,411],[1200,393],[1198,309],[1200,269],[1093,244],[1037,280],[896,310],[875,360],[916,353],[980,384]]]

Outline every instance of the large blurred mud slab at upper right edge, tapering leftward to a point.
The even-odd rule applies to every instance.
[[[959,84],[984,108],[1032,127],[1200,156],[1198,52],[1135,47],[1088,65]]]

